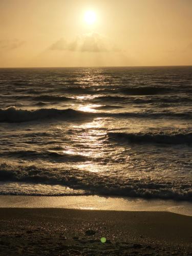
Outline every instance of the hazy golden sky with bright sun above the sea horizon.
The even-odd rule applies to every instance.
[[[192,65],[192,0],[0,0],[0,67],[168,65]]]

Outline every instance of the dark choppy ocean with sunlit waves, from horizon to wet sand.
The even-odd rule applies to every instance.
[[[0,69],[0,195],[192,201],[192,67]]]

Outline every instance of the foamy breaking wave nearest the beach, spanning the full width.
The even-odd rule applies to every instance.
[[[90,195],[192,200],[191,182],[187,183],[182,179],[173,181],[140,177],[138,179],[128,177],[121,179],[113,175],[105,174],[103,176],[80,169],[2,163],[0,164],[0,181],[63,185],[72,189],[82,189]],[[63,193],[60,194],[63,195]],[[58,193],[57,196],[60,194]]]

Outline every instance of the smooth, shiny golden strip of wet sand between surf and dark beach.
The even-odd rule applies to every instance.
[[[167,211],[192,216],[192,202],[129,197],[0,195],[1,208]]]

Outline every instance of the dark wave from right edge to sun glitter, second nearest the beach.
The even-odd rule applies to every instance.
[[[163,144],[188,144],[192,143],[192,133],[179,134],[144,134],[144,133],[108,133],[110,139],[123,140],[133,143],[163,143]]]

